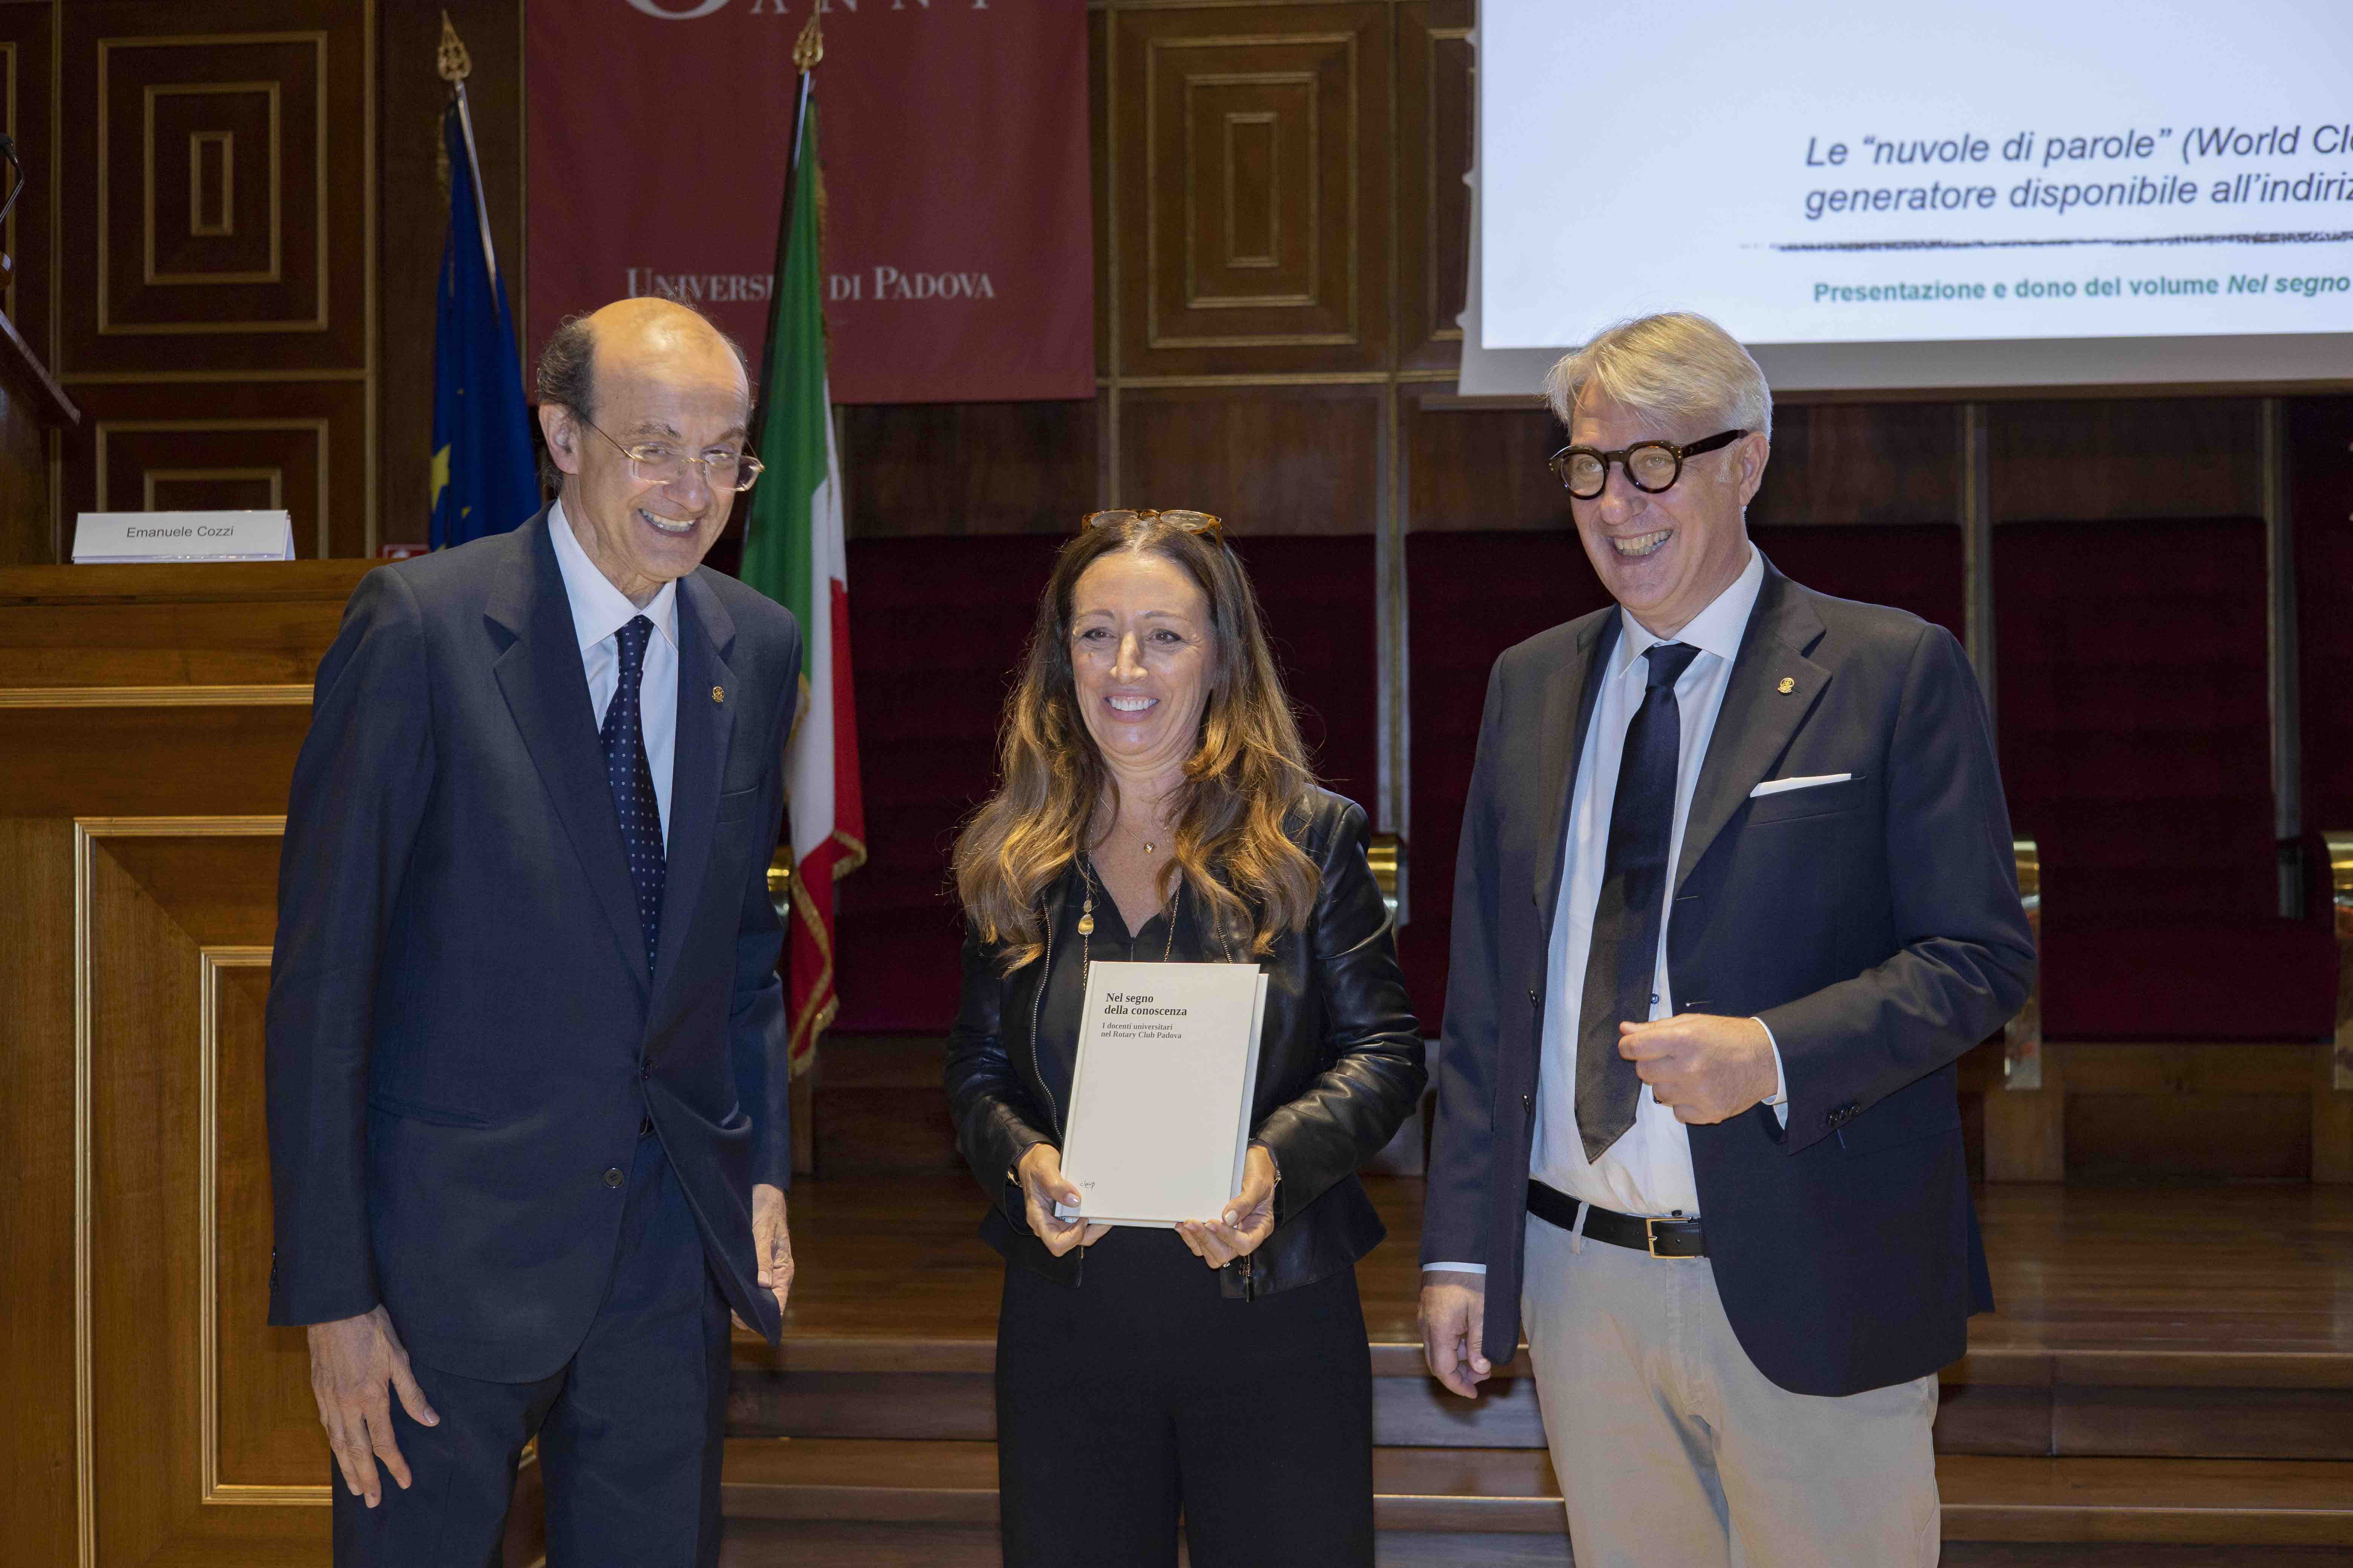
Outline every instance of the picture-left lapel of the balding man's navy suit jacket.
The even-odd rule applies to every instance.
[[[621,818],[612,806],[612,785],[605,783],[605,748],[598,743],[579,630],[572,625],[572,599],[555,564],[546,512],[515,529],[515,550],[482,614],[515,637],[492,665],[499,691],[555,804],[555,818],[588,872],[605,924],[628,957],[628,971],[645,985],[638,891],[621,851]]]

